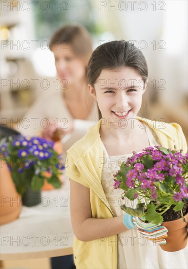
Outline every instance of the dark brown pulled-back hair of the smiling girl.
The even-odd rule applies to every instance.
[[[103,69],[133,68],[146,83],[148,71],[146,59],[140,49],[125,41],[110,41],[98,46],[87,66],[87,82],[94,88]],[[100,118],[101,112],[99,111]]]

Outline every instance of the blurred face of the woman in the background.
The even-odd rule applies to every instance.
[[[79,83],[85,77],[85,64],[72,50],[70,45],[53,45],[55,66],[60,80],[68,84]]]

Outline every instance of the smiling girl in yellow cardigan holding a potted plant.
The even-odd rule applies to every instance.
[[[176,145],[187,152],[178,124],[161,125],[137,116],[146,85],[146,60],[138,48],[122,40],[94,50],[88,63],[88,90],[97,100],[102,118],[67,151],[78,269],[188,266],[188,249],[163,251],[159,245],[166,244],[167,229],[124,214],[120,209],[122,191],[113,188],[113,174],[133,151]]]

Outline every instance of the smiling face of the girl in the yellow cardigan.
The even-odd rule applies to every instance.
[[[130,67],[102,70],[94,88],[88,85],[97,100],[102,117],[114,122],[136,118],[146,90],[142,77]]]

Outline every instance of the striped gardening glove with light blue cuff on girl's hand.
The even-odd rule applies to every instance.
[[[127,213],[124,214],[123,222],[128,229],[137,228],[137,230],[148,240],[158,243],[159,246],[167,244],[167,228],[161,224],[145,223],[146,217],[133,217]]]

